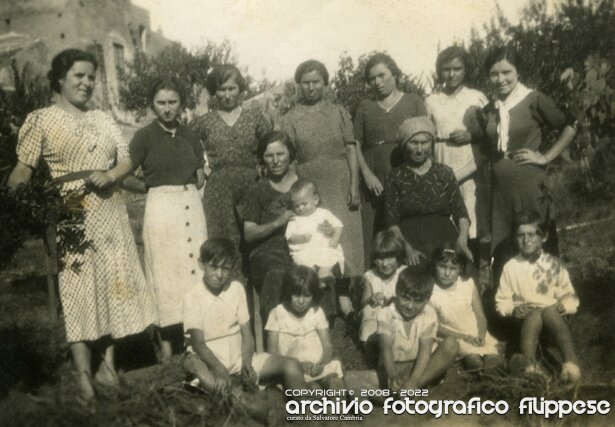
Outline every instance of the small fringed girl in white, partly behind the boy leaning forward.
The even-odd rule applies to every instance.
[[[362,319],[359,340],[363,343],[367,367],[378,363],[378,313],[395,297],[399,273],[406,268],[400,260],[404,256],[403,241],[395,233],[385,230],[376,234],[372,253],[372,269],[363,275]]]

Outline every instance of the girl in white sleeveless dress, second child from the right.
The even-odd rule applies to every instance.
[[[465,276],[468,259],[454,245],[437,248],[431,258],[436,286],[431,305],[438,313],[438,335],[452,337],[467,369],[500,364],[498,342],[487,332],[487,319],[478,289]]]

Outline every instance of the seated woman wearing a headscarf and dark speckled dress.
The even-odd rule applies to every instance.
[[[384,187],[386,224],[403,237],[410,266],[424,264],[435,248],[448,242],[456,242],[472,259],[470,220],[455,175],[432,160],[435,134],[428,117],[402,123],[399,144],[405,162],[389,172]]]

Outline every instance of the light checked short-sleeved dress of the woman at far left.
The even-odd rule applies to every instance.
[[[128,155],[120,130],[107,114],[88,111],[77,118],[52,106],[31,113],[19,132],[17,156],[29,167],[40,159],[54,178],[81,170],[109,170]],[[83,190],[84,181],[62,191]],[[60,299],[69,342],[138,333],[156,322],[128,222],[126,207],[114,188],[86,192],[85,234],[91,246],[68,253],[60,272]],[[68,266],[80,264],[78,270]]]

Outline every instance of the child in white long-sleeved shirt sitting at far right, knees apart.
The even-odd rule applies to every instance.
[[[502,316],[512,316],[520,323],[521,353],[528,362],[526,372],[542,372],[536,350],[540,333],[545,329],[564,358],[561,379],[577,382],[581,371],[570,329],[563,318],[575,313],[579,306],[568,271],[559,259],[542,250],[547,228],[537,212],[520,213],[514,230],[519,253],[504,265],[495,295],[496,309]]]

